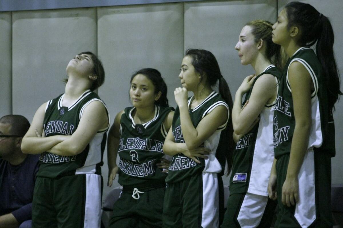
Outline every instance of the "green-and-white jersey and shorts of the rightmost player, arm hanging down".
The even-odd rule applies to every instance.
[[[282,204],[282,186],[286,179],[295,128],[293,98],[288,68],[299,62],[309,72],[314,84],[311,93],[311,130],[307,151],[298,174],[299,202]],[[274,151],[279,211],[275,227],[332,227],[331,157],[335,155],[335,131],[332,111],[328,107],[327,82],[315,52],[309,47],[298,49],[285,65],[274,113]]]

